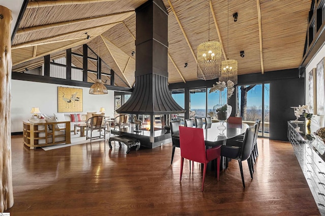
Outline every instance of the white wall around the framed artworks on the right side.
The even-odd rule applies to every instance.
[[[323,45],[317,52],[317,54],[312,58],[312,60],[306,66],[305,72],[305,87],[306,87],[306,104],[309,103],[309,90],[308,90],[308,73],[313,68],[317,68],[317,64],[320,62],[322,58],[325,57],[325,46]],[[297,104],[298,106],[298,104]],[[315,111],[314,111],[315,112]],[[319,127],[325,126],[325,116],[314,116],[312,118],[312,132],[315,132]]]

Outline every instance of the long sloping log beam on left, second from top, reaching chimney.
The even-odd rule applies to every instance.
[[[94,20],[98,20],[98,19],[104,19],[104,18],[121,15],[121,14],[127,14],[127,13],[129,13],[131,15],[131,14],[135,13],[135,11],[125,11],[125,12],[108,14],[108,15],[98,16],[98,17],[91,17],[91,18],[84,18],[84,19],[78,19],[78,20],[70,20],[70,21],[65,21],[65,22],[50,23],[50,24],[46,24],[46,25],[32,26],[32,27],[28,27],[28,28],[19,29],[16,34],[19,35],[19,34],[29,33],[29,32],[37,31],[37,30],[44,30],[44,29],[48,29],[48,28],[56,28],[56,27],[61,27],[61,26],[66,26],[66,25],[71,25],[71,24],[76,24],[76,23],[81,23],[81,22],[94,21]],[[112,23],[108,23],[108,24],[112,24]]]

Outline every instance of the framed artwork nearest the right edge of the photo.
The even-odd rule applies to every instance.
[[[317,64],[316,88],[317,115],[324,115],[324,58]]]

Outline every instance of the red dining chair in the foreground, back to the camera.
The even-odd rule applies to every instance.
[[[179,181],[182,181],[184,158],[204,164],[202,191],[207,164],[214,159],[216,159],[217,180],[219,181],[221,145],[211,149],[206,149],[203,129],[195,127],[179,126],[179,140],[181,149],[181,171]]]

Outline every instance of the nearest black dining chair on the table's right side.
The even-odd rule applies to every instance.
[[[247,160],[251,155],[256,130],[257,130],[256,123],[254,124],[254,126],[246,129],[245,135],[244,135],[244,140],[243,140],[241,146],[233,146],[231,144],[221,146],[221,156],[238,160],[240,174],[242,177],[242,182],[243,182],[244,188],[245,188],[245,181],[244,181],[242,161]],[[253,179],[251,163],[250,163],[250,161],[247,161],[247,162],[248,162],[250,177]]]

